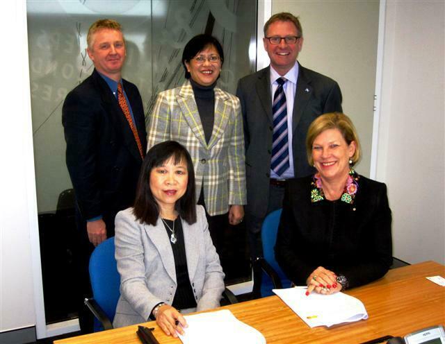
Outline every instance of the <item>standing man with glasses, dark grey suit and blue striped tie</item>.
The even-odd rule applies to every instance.
[[[252,259],[262,255],[261,225],[282,207],[286,180],[314,172],[305,151],[310,123],[325,112],[342,112],[339,85],[296,60],[303,44],[297,17],[288,12],[270,17],[263,42],[270,66],[241,78],[236,92],[244,121]]]

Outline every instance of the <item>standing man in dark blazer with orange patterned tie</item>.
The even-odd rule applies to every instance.
[[[66,162],[76,196],[79,230],[79,289],[90,296],[88,260],[114,235],[115,215],[133,203],[147,148],[143,103],[136,85],[121,78],[125,42],[118,22],[102,19],[90,27],[91,76],[65,98],[62,121]],[[83,332],[92,322],[79,307]],[[85,321],[84,321],[85,320]]]

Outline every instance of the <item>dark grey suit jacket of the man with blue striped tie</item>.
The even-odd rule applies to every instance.
[[[241,102],[245,139],[245,177],[248,190],[246,212],[257,218],[266,216],[272,152],[272,96],[269,67],[245,76],[236,90]],[[307,163],[307,129],[326,112],[342,112],[341,91],[332,79],[299,65],[293,102],[293,166],[295,177],[314,173]]]

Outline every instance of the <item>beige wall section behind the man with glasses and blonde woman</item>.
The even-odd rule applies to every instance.
[[[298,61],[339,83],[343,112],[362,143],[357,171],[369,176],[379,1],[275,0],[272,12],[300,17],[305,41]]]

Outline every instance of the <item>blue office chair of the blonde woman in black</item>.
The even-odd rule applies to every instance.
[[[275,210],[266,216],[261,227],[261,240],[263,241],[263,257],[258,257],[254,264],[257,273],[262,271],[261,284],[259,278],[254,276],[254,293],[261,298],[273,295],[272,289],[289,288],[291,281],[283,273],[275,260],[275,242],[277,241],[278,224],[280,223],[282,209]],[[255,285],[257,284],[257,285]]]

